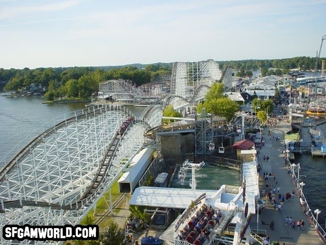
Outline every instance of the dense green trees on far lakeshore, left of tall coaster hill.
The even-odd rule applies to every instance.
[[[111,79],[131,80],[136,85],[154,81],[158,76],[169,74],[167,65],[151,64],[144,69],[133,66],[103,70],[94,67],[0,69],[0,80],[9,80],[5,91],[17,91],[31,84],[47,90],[45,97],[87,98],[98,90],[98,84]]]

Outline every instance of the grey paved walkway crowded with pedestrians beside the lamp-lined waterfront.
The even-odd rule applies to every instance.
[[[270,128],[272,136],[271,140],[269,140],[269,136],[267,136],[268,128],[264,130],[265,146],[262,147],[258,155],[258,163],[263,164],[263,168],[260,171],[259,180],[260,193],[262,193],[261,190],[266,183],[271,183],[273,184],[273,187],[275,186],[276,188],[279,186],[281,188],[280,193],[284,195],[287,192],[292,192],[292,190],[295,191],[291,176],[287,174],[287,168],[283,159],[282,151],[285,150],[284,145],[282,145],[279,141],[276,141],[276,136],[279,136],[281,138],[280,141],[282,142],[284,139],[284,131],[288,129],[287,127],[288,126],[285,123],[279,122],[277,127]],[[273,136],[275,136],[274,140]],[[263,161],[264,155],[269,156],[268,161]],[[268,173],[275,173],[278,184],[276,185],[276,181],[274,180],[264,181],[264,171],[267,171]],[[278,200],[278,197],[276,198]],[[265,197],[262,199],[266,200]],[[304,220],[305,230],[297,230],[297,227],[293,229],[285,226],[285,218],[287,216],[291,216],[295,221],[299,219]],[[258,229],[267,230],[270,241],[279,241],[281,245],[283,242],[285,242],[286,245],[324,244],[315,232],[314,226],[309,223],[308,218],[305,215],[305,211],[300,204],[297,193],[295,193],[294,198],[291,198],[289,202],[284,203],[281,213],[279,213],[277,209],[275,211],[272,205],[265,203],[265,210],[261,213],[261,215],[259,215],[259,219],[260,222]],[[274,230],[269,228],[269,224],[272,220],[275,222]],[[256,229],[256,225],[253,224],[253,229]]]

